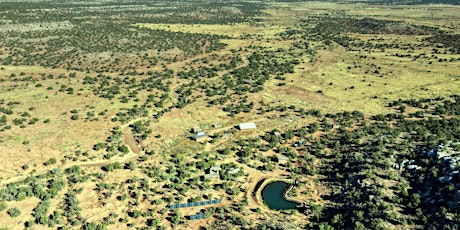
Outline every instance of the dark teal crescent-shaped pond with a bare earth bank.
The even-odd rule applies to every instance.
[[[282,181],[270,183],[262,190],[262,199],[274,210],[295,209],[299,203],[286,200],[283,196],[288,187],[289,184]]]

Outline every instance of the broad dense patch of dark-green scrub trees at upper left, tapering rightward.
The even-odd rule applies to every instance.
[[[161,60],[177,61],[200,54],[203,47],[206,52],[223,47],[219,36],[150,30],[129,23],[81,23],[52,33],[18,31],[3,35],[8,39],[2,40],[2,45],[11,47],[11,52],[1,60],[4,65],[97,72],[129,72],[136,67],[153,67]],[[178,52],[172,56],[162,54],[176,49]]]

